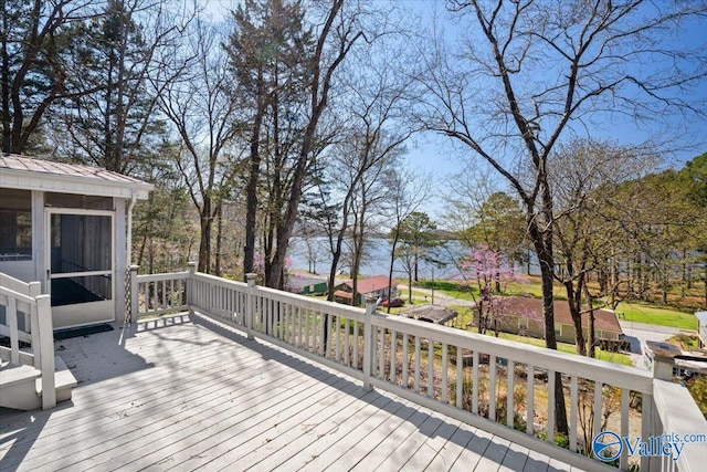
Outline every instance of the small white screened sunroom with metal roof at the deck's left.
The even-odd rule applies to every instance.
[[[131,210],[151,189],[102,168],[0,156],[0,272],[42,284],[54,329],[122,322]]]

